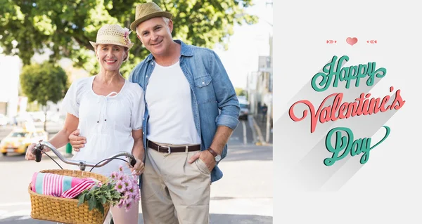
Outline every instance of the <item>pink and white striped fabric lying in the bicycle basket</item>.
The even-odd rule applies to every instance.
[[[32,175],[31,188],[33,192],[41,195],[75,198],[97,182],[98,180],[94,178],[74,178],[54,173],[35,172]]]

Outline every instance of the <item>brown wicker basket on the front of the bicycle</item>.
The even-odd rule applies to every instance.
[[[87,171],[59,169],[39,172],[76,178],[95,178],[101,182],[105,182],[107,179],[106,176]],[[28,187],[28,192],[30,192],[31,197],[31,217],[34,219],[69,224],[103,224],[110,209],[110,204],[107,203],[104,204],[104,215],[96,209],[89,211],[87,203],[81,204],[78,207],[77,199],[40,195],[31,190],[31,185]]]

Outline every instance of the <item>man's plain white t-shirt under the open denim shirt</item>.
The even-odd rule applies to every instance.
[[[156,143],[200,144],[193,120],[191,86],[179,62],[163,67],[155,63],[145,93],[148,135]]]

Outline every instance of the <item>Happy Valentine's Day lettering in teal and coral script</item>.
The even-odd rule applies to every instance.
[[[335,66],[335,62],[337,62]],[[347,55],[338,58],[333,56],[331,62],[328,62],[322,72],[319,72],[314,75],[312,78],[311,86],[314,91],[321,92],[326,91],[328,87],[333,83],[333,87],[337,87],[339,81],[345,82],[345,88],[350,88],[352,81],[354,80],[354,86],[359,87],[360,80],[366,77],[366,86],[372,86],[376,78],[381,79],[387,74],[387,70],[384,67],[380,67],[376,70],[376,62],[368,62],[367,64],[353,65],[350,67],[342,67],[344,62],[347,62],[349,57]],[[317,79],[321,79],[319,83]],[[394,91],[394,87],[390,87],[390,92]],[[359,98],[356,98],[354,102],[343,102],[343,93],[333,93],[328,95],[318,107],[318,110],[315,110],[314,105],[309,102],[309,100],[300,100],[294,103],[289,110],[290,118],[293,121],[302,121],[307,117],[308,112],[310,112],[311,120],[311,133],[314,133],[316,129],[316,124],[324,124],[328,121],[336,121],[337,119],[347,119],[355,116],[362,115],[371,115],[378,112],[386,112],[388,110],[399,110],[403,107],[405,100],[402,99],[400,95],[400,90],[395,91],[394,100],[392,103],[390,101],[390,95],[385,95],[381,98],[370,98],[371,93],[361,93]],[[325,106],[327,100],[333,99],[331,105]],[[309,110],[304,110],[302,117],[297,117],[294,112],[294,107],[298,104],[306,105]],[[386,130],[384,138],[371,147],[371,138],[359,138],[354,140],[352,130],[345,127],[338,127],[331,129],[328,132],[326,137],[326,148],[328,152],[333,153],[332,157],[324,159],[324,164],[326,166],[333,165],[336,161],[343,159],[350,153],[352,157],[357,154],[362,154],[360,159],[361,164],[365,164],[369,159],[369,151],[374,147],[382,143],[389,135],[390,128],[388,126],[383,126]],[[342,133],[345,133],[346,136],[342,136]],[[335,134],[335,144],[331,144],[331,138]],[[343,154],[340,154],[340,152]]]

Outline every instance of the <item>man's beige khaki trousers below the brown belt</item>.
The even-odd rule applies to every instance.
[[[207,224],[210,214],[210,171],[196,152],[146,150],[141,203],[146,224]]]

